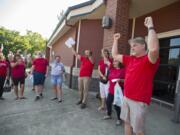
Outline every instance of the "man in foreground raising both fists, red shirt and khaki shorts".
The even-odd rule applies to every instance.
[[[147,49],[144,38],[129,40],[131,56],[118,54],[120,33],[114,34],[112,56],[126,67],[124,103],[121,119],[125,135],[144,135],[145,116],[151,101],[154,75],[159,65],[159,42],[151,17],[145,18],[148,28]]]

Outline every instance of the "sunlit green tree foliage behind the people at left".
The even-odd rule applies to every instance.
[[[0,45],[4,45],[3,53],[5,56],[9,51],[16,53],[17,50],[21,50],[22,54],[45,51],[46,41],[37,32],[27,31],[26,35],[22,36],[18,31],[0,27]]]

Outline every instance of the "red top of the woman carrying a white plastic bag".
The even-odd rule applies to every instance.
[[[110,68],[108,80],[109,80],[109,93],[114,95],[114,86],[116,82],[112,82],[113,79],[124,79],[125,68]],[[123,88],[123,83],[119,82],[119,85]]]

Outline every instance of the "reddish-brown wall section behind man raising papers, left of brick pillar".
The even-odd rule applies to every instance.
[[[103,29],[101,20],[82,20],[79,41],[79,54],[84,55],[84,50],[90,49],[95,59],[95,69],[97,69],[98,60],[101,57],[103,47]],[[78,62],[78,67],[80,62]]]

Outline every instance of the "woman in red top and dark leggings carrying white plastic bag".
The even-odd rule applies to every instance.
[[[106,106],[107,106],[107,116],[104,117],[104,119],[111,119],[111,113],[112,113],[112,104],[114,101],[114,87],[116,82],[119,83],[121,88],[123,89],[123,82],[121,79],[125,78],[125,69],[122,68],[122,65],[120,64],[119,61],[114,60],[113,65],[108,62],[109,65],[109,75],[108,75],[108,80],[109,80],[109,91],[108,91],[108,96],[107,96],[107,101],[106,101]],[[113,82],[114,79],[119,79],[120,81]],[[117,114],[117,122],[116,125],[121,124],[121,119],[120,119],[120,113],[121,113],[121,108],[117,105],[114,105],[114,108],[116,110]]]

